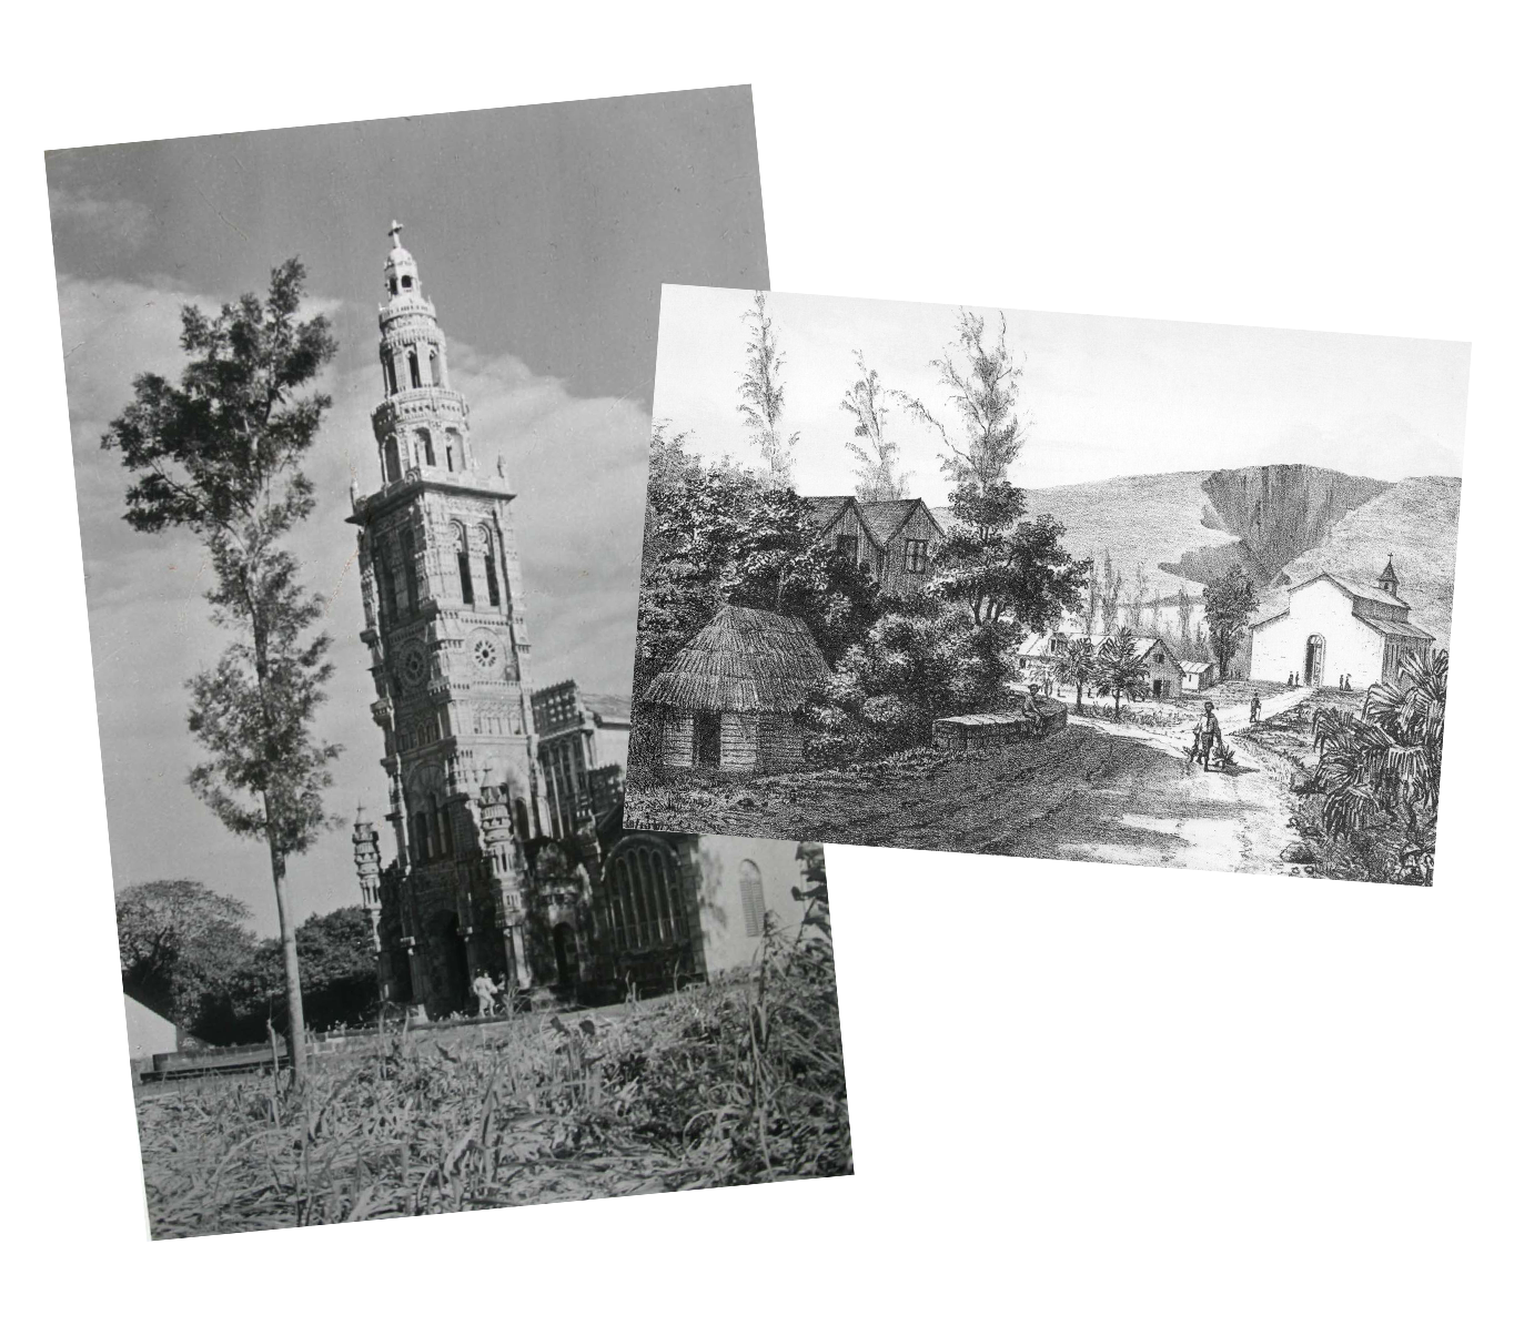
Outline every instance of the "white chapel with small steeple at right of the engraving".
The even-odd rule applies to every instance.
[[[1288,606],[1252,624],[1251,677],[1307,686],[1335,686],[1350,677],[1354,691],[1397,680],[1408,654],[1428,653],[1435,636],[1410,621],[1399,597],[1393,557],[1378,585],[1320,571],[1288,589]]]

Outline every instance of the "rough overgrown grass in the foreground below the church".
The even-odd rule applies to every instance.
[[[144,1087],[153,1236],[851,1168],[830,957],[624,1015],[391,1031],[288,1072]]]

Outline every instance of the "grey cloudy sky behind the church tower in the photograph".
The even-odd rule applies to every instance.
[[[692,108],[699,114],[690,115]],[[177,374],[179,309],[263,292],[298,254],[341,354],[309,459],[319,506],[300,530],[330,600],[336,678],[319,734],[345,747],[333,809],[385,804],[382,736],[357,639],[348,485],[378,485],[368,415],[382,386],[377,309],[389,221],[404,223],[468,395],[484,468],[509,463],[537,684],[630,684],[660,283],[763,285],[743,109],[724,94],[424,121],[262,142],[112,153],[44,167],[83,413],[79,457],[104,678],[109,790],[124,881],[197,878],[274,928],[266,850],[230,837],[185,786],[200,757],[183,681],[226,645],[188,533],[121,519],[127,475],[98,448],[142,371]],[[734,162],[734,165],[733,165]],[[745,167],[745,168],[743,168]],[[388,842],[386,856],[392,851]],[[295,915],[357,901],[351,842],[294,862]]]

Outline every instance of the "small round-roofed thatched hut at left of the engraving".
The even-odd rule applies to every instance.
[[[804,763],[795,713],[830,675],[802,621],[722,607],[646,687],[659,763],[766,772]]]

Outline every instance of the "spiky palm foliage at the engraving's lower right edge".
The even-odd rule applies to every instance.
[[[1325,831],[1346,837],[1384,818],[1400,825],[1403,883],[1429,881],[1447,668],[1444,650],[1428,659],[1410,656],[1396,681],[1369,687],[1361,716],[1337,709],[1314,713],[1320,753],[1314,786],[1325,798]]]

